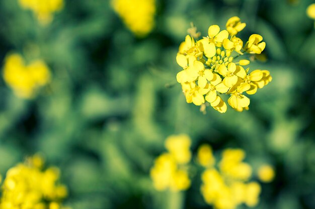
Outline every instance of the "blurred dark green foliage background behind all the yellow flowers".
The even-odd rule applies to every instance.
[[[40,56],[52,82],[33,100],[17,98],[0,79],[0,172],[41,152],[60,167],[77,209],[211,208],[199,184],[187,192],[153,189],[149,168],[168,135],[187,133],[192,150],[242,148],[254,169],[276,168],[262,184],[256,208],[315,208],[315,32],[307,0],[160,0],[155,28],[136,38],[109,0],[68,0],[53,22],[40,26],[17,0],[0,1],[0,60],[9,52]],[[251,97],[250,110],[187,104],[176,74],[179,44],[190,22],[206,34],[239,16],[243,40],[267,44],[273,81]],[[240,206],[239,208],[243,208]],[[245,208],[245,206],[244,206]]]

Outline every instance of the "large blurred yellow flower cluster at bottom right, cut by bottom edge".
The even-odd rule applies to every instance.
[[[242,203],[250,207],[258,203],[261,187],[257,182],[248,182],[252,168],[243,162],[244,158],[241,149],[225,149],[216,164],[211,147],[200,146],[197,159],[206,168],[201,176],[201,193],[208,204],[217,209],[233,209]]]

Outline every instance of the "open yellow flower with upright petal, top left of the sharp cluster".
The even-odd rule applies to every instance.
[[[216,53],[216,48],[222,46],[224,39],[228,38],[228,32],[223,30],[220,32],[220,27],[217,25],[210,26],[208,29],[208,36],[199,42],[201,51],[204,52],[207,58],[211,58]]]

